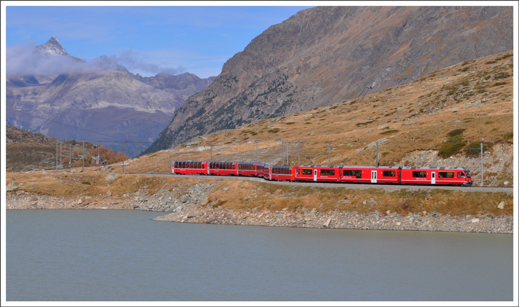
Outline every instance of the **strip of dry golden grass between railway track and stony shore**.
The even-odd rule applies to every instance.
[[[161,189],[168,190],[180,197],[185,188],[200,180],[192,178],[170,178],[134,176],[118,174],[113,182],[106,182],[107,173],[87,170],[84,173],[42,174],[7,173],[7,183],[22,183],[19,190],[58,197],[79,197],[104,195],[108,190],[113,195],[122,196],[127,192],[135,193],[146,187],[149,196]],[[367,213],[378,211],[430,213],[432,211],[450,215],[475,214],[513,214],[513,196],[506,193],[461,192],[451,190],[408,191],[405,188],[386,193],[384,189],[346,189],[320,188],[309,186],[276,185],[271,183],[248,182],[241,180],[208,180],[204,183],[215,184],[209,194],[213,207],[222,206],[234,210],[288,210],[296,211],[316,208],[318,211],[355,211]],[[179,189],[179,187],[181,189]],[[224,187],[228,190],[222,191]],[[182,189],[184,188],[184,189]],[[174,190],[174,191],[173,191]],[[178,191],[178,192],[176,192]],[[342,201],[342,202],[341,202]],[[497,205],[504,201],[504,210]]]

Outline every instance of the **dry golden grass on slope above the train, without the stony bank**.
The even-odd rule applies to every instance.
[[[279,140],[284,139],[290,142],[291,165],[297,164],[297,142],[301,142],[301,164],[328,164],[331,142],[332,164],[374,165],[375,147],[364,148],[387,138],[379,144],[379,153],[384,153],[379,165],[396,165],[415,150],[440,149],[447,133],[455,129],[466,129],[467,144],[482,138],[490,144],[513,142],[506,138],[513,130],[513,63],[503,57],[507,54],[511,52],[446,67],[357,100],[197,137],[201,143],[191,148],[183,144],[135,159],[138,165],[128,166],[128,172],[170,173],[173,160],[208,161],[209,150],[192,150],[211,143],[213,161],[255,161],[254,141],[258,141],[260,161],[280,163],[281,157],[272,154],[281,152]],[[485,87],[487,102],[479,106],[474,102],[483,99]]]

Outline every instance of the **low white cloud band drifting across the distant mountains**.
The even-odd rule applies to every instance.
[[[130,72],[155,75],[158,73],[179,74],[182,67],[172,68],[145,63],[137,52],[122,51],[119,55],[108,55],[84,62],[63,55],[44,54],[34,44],[7,46],[6,75],[8,78],[22,76],[57,76],[60,74],[86,74],[106,70],[120,70],[124,66]]]

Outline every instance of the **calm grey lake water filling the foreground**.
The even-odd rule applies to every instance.
[[[513,236],[8,210],[7,301],[512,301]]]

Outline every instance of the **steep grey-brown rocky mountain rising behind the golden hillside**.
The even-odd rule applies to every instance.
[[[175,112],[147,152],[356,99],[513,49],[512,7],[316,7],[269,27]]]

